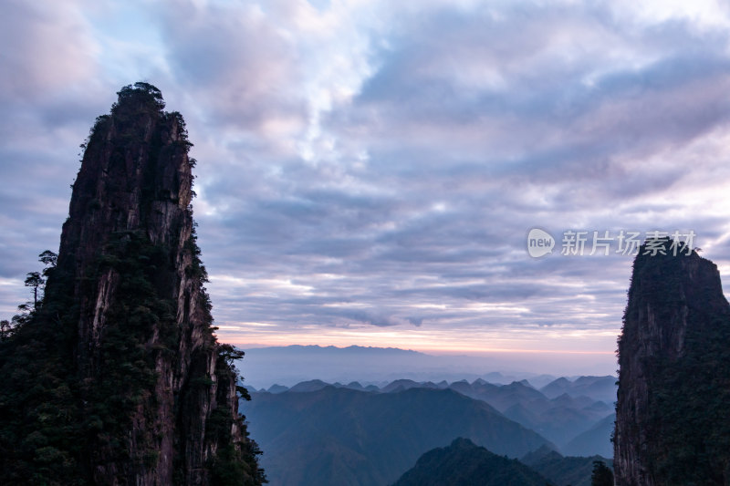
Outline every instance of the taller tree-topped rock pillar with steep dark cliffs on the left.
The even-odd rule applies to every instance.
[[[0,341],[0,484],[261,484],[242,354],[217,342],[203,286],[183,117],[147,83],[118,95],[57,258],[41,254],[45,292]]]

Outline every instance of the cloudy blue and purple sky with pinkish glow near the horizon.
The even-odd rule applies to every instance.
[[[0,43],[3,318],[57,250],[79,144],[141,80],[194,143],[222,341],[611,372],[620,234],[678,232],[727,284],[726,3],[5,0]]]

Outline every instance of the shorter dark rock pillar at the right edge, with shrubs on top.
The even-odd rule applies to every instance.
[[[636,257],[619,339],[617,485],[727,484],[730,306],[697,253]]]

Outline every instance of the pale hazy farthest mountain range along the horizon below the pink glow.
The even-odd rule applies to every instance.
[[[527,379],[531,386],[539,389],[557,378],[547,374],[505,371],[529,369],[530,363],[516,357],[506,361],[502,355],[433,356],[394,347],[365,346],[243,346],[243,350],[245,360],[241,369],[246,384],[257,389],[268,388],[275,383],[291,387],[312,378],[328,383],[358,380],[365,386],[382,386],[397,378],[418,382],[452,382],[464,378],[474,381],[482,378],[503,385]],[[568,390],[564,391],[570,394]],[[615,395],[610,402],[614,399]]]

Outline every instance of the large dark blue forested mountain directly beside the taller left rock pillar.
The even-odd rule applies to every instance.
[[[390,484],[423,452],[456,437],[513,458],[556,448],[484,401],[448,388],[380,393],[326,386],[252,396],[241,411],[265,451],[261,462],[272,484]]]

